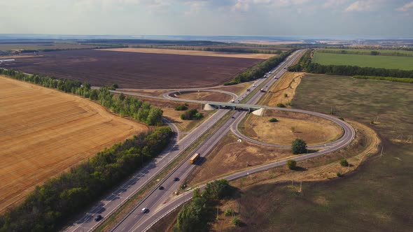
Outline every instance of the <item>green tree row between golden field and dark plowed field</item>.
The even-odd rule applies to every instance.
[[[91,89],[90,84],[78,80],[56,79],[46,75],[29,75],[21,71],[13,71],[0,68],[0,74],[7,75],[10,78],[31,82],[36,85],[58,89],[62,92],[77,94],[85,98],[99,102],[102,106],[108,108],[113,113],[120,116],[128,116],[133,119],[148,124],[158,126],[162,124],[162,110],[149,103],[144,103],[132,96],[124,94],[114,95],[109,92],[109,87],[100,89]]]

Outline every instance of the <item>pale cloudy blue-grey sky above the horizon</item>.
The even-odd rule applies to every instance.
[[[413,37],[412,0],[0,0],[1,34]]]

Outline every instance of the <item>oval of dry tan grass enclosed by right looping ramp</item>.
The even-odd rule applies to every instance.
[[[269,122],[272,117],[279,122]],[[266,110],[262,117],[250,114],[239,129],[250,138],[278,145],[291,145],[295,138],[317,145],[342,135],[342,128],[327,119],[278,110]]]

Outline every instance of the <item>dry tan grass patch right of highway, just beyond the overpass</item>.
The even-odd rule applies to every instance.
[[[304,73],[287,72],[277,80],[269,91],[258,102],[259,105],[276,106],[278,103],[289,103],[293,101],[295,89],[300,85]],[[285,96],[284,94],[287,94]]]

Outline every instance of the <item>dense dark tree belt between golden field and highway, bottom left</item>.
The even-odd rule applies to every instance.
[[[0,231],[58,231],[158,156],[173,135],[169,127],[140,133],[37,186],[23,203],[0,216]]]

